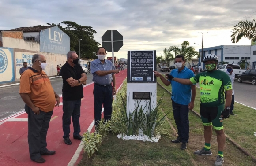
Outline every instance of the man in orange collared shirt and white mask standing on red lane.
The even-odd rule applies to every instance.
[[[44,55],[33,55],[32,67],[20,77],[19,87],[19,94],[28,114],[27,137],[30,159],[38,163],[45,162],[41,155],[55,154],[55,151],[46,148],[46,134],[53,108],[60,104],[60,97],[53,91],[51,82],[43,71],[46,65]]]

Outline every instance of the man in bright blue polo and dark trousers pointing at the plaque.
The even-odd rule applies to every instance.
[[[173,77],[178,78],[191,78],[194,77],[192,70],[184,66],[185,58],[183,55],[175,57],[176,69],[171,71]],[[180,143],[181,150],[187,148],[189,138],[189,120],[188,111],[194,108],[194,101],[196,97],[196,85],[184,85],[175,81],[169,81],[162,76],[162,74],[154,71],[156,77],[160,77],[161,81],[166,85],[172,86],[172,105],[173,105],[173,118],[177,125],[178,137],[172,140],[173,143]],[[175,75],[175,76],[174,76]],[[192,97],[191,97],[192,96]]]

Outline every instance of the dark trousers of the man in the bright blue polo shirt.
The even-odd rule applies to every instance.
[[[173,103],[173,118],[175,120],[178,135],[182,142],[188,142],[189,139],[189,120],[188,120],[188,105]]]

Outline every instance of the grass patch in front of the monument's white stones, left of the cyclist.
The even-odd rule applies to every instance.
[[[121,140],[109,134],[108,140],[90,159],[84,155],[78,166],[193,166],[189,154],[169,139],[158,143]]]

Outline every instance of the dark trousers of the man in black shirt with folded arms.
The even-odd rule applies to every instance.
[[[81,99],[79,100],[63,100],[63,115],[62,115],[62,129],[63,129],[63,138],[69,137],[70,133],[70,123],[71,117],[73,122],[74,133],[73,136],[78,136],[81,132],[80,130],[80,107],[81,107]]]

